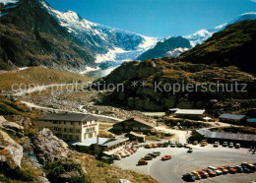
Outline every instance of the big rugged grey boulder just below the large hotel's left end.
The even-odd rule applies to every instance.
[[[68,156],[68,145],[49,129],[42,129],[32,138],[33,152],[42,164]]]

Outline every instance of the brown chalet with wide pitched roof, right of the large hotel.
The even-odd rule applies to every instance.
[[[150,133],[155,129],[154,124],[146,122],[139,118],[130,118],[113,125],[113,131],[117,134],[123,132],[143,132]]]

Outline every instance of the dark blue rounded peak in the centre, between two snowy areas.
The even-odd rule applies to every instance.
[[[179,51],[178,50],[175,51],[176,48],[180,48],[180,49],[191,48],[191,45],[189,40],[182,36],[170,37],[163,41],[158,42],[154,48],[144,52],[137,59],[147,60],[147,59],[153,59],[153,58],[160,58],[164,56],[175,57],[179,55]]]

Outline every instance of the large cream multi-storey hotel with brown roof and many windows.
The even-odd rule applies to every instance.
[[[98,118],[91,114],[48,113],[38,118],[39,130],[48,128],[64,141],[83,142],[98,135]]]

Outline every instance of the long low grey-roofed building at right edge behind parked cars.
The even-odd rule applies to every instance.
[[[241,147],[256,146],[256,135],[254,134],[233,134],[226,132],[212,132],[206,128],[193,131],[194,140],[206,139],[209,143],[220,142],[232,142],[234,144],[238,143]]]

